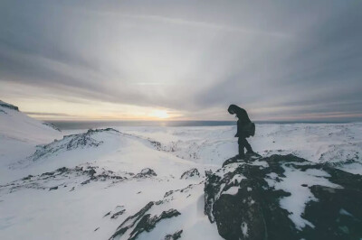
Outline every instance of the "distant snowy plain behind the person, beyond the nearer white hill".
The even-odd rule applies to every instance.
[[[221,165],[237,153],[236,126],[119,129],[157,141],[159,148],[193,162]],[[362,123],[256,125],[256,134],[248,141],[263,156],[292,153],[362,174]]]

